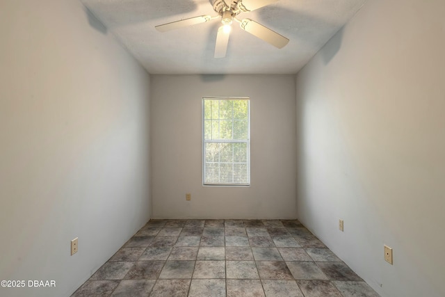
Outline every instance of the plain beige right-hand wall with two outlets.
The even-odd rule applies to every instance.
[[[370,0],[297,77],[298,218],[384,297],[445,296],[444,15]]]

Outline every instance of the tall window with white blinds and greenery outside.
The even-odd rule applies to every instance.
[[[250,185],[249,98],[202,99],[204,185]]]

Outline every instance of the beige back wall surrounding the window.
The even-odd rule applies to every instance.
[[[250,97],[250,187],[202,186],[204,96]],[[153,217],[296,218],[295,108],[291,75],[152,76]]]

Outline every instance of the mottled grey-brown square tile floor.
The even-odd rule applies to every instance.
[[[150,220],[72,296],[378,296],[298,220]]]

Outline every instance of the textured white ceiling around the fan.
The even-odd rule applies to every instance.
[[[277,49],[234,23],[227,56],[213,58],[220,21],[160,33],[154,26],[216,15],[211,0],[81,0],[151,74],[295,74],[366,0],[280,0],[248,17],[286,36]],[[90,24],[97,22],[90,17]]]

